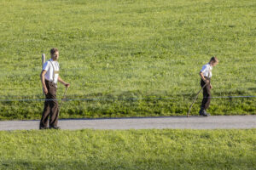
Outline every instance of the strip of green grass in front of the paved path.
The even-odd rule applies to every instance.
[[[0,132],[1,169],[255,169],[256,129]]]

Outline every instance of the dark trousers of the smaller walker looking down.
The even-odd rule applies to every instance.
[[[210,78],[207,78],[206,79],[208,81],[211,81]],[[202,79],[201,79],[201,88],[206,84],[206,82],[204,82]],[[203,99],[201,101],[201,108],[207,110],[210,106],[210,103],[211,103],[211,97],[212,97],[212,94],[211,94],[211,88],[210,88],[210,83],[207,84],[207,86],[205,88],[203,88]]]

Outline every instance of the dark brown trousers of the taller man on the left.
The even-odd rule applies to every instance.
[[[49,82],[45,80],[46,88],[48,89],[48,94],[45,95],[44,101],[44,111],[40,121],[40,127],[55,127],[58,123],[58,102],[56,99],[56,91],[54,82]]]

